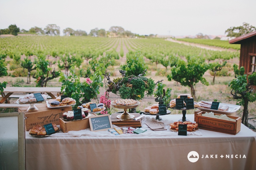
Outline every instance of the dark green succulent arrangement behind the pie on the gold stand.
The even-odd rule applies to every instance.
[[[154,93],[155,83],[151,78],[144,76],[137,77],[134,75],[114,79],[109,82],[108,90],[114,94],[119,94],[122,99],[140,100],[146,95]]]

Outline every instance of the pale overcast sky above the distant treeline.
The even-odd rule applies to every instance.
[[[256,0],[0,0],[0,29],[109,30],[121,26],[140,35],[225,35],[231,26],[256,26]]]

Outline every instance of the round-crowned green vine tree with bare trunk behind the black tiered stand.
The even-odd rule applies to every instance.
[[[192,97],[197,100],[194,86],[199,81],[204,85],[209,85],[207,80],[203,78],[204,73],[208,70],[208,64],[203,59],[198,57],[187,56],[187,63],[184,60],[179,60],[176,66],[171,68],[171,74],[168,75],[168,80],[175,80],[183,86],[190,87]]]

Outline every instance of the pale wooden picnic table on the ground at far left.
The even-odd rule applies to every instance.
[[[56,99],[54,94],[56,93],[57,96],[59,96],[61,93],[61,87],[6,87],[1,93],[2,99],[0,100],[0,104],[4,102],[10,104],[9,98],[12,96],[14,98],[19,98],[18,95],[12,95],[13,93],[47,93],[52,99]]]

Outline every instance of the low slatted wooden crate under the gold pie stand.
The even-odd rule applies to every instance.
[[[133,119],[129,119],[129,120],[124,120],[124,121],[118,121],[119,119],[116,118],[116,116],[118,116],[120,113],[113,113],[111,114],[111,121],[112,124],[118,126],[118,127],[141,127],[141,119],[135,121]],[[140,114],[139,113],[132,113],[136,118],[139,117]]]

